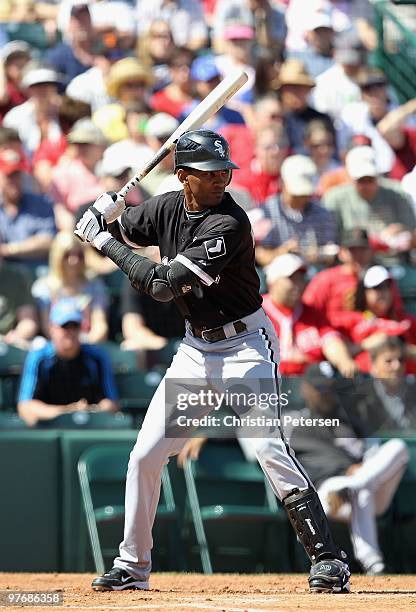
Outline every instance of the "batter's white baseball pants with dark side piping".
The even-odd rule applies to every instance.
[[[242,319],[247,331],[235,335],[227,326],[226,340],[208,343],[187,332],[147,410],[127,471],[124,539],[116,567],[146,582],[151,571],[152,526],[160,495],[161,472],[169,457],[176,455],[191,436],[165,437],[166,379],[223,380],[277,379],[278,341],[263,309]],[[234,332],[234,335],[232,335]],[[203,414],[194,408],[195,416]],[[210,410],[209,410],[210,411]],[[192,416],[192,409],[187,415]],[[187,432],[188,433],[188,432]],[[259,463],[274,493],[282,499],[293,489],[311,485],[281,431],[253,438]]]

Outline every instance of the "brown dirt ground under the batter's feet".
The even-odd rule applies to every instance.
[[[416,610],[416,576],[354,576],[349,595],[310,594],[305,575],[154,574],[150,591],[96,593],[90,574],[0,573],[0,590],[62,591],[71,610]],[[3,605],[4,608],[4,596]],[[50,610],[36,606],[37,610]]]

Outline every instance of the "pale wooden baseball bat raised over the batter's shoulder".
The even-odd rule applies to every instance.
[[[125,197],[132,187],[140,183],[169,153],[174,149],[175,144],[185,132],[197,130],[216,113],[248,80],[245,72],[230,74],[204,98],[184,121],[176,128],[172,136],[155,153],[151,160],[142,168],[124,187],[120,189],[118,195]]]

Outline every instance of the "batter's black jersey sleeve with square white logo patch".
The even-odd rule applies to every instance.
[[[241,250],[253,249],[249,222],[245,228],[237,219],[230,218],[212,228],[204,236],[194,238],[193,243],[176,255],[205,285],[218,282],[221,270]]]

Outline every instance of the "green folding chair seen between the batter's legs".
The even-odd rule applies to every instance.
[[[186,518],[197,541],[189,549],[199,554],[205,574],[213,572],[213,559],[217,571],[290,570],[286,514],[235,440],[210,440],[184,471]]]

